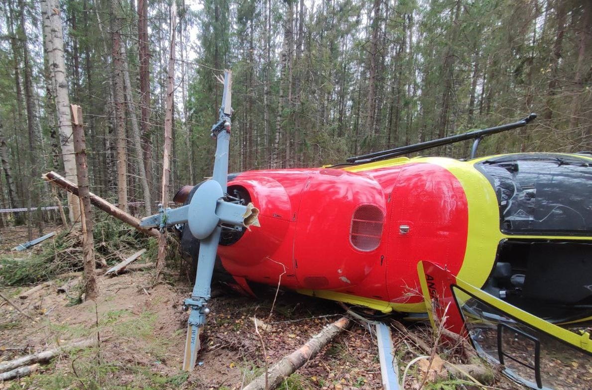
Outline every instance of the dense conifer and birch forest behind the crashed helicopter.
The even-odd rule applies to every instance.
[[[211,175],[223,69],[231,172],[339,163],[529,112],[536,125],[488,137],[480,153],[591,146],[589,1],[5,0],[0,12],[1,209],[64,202],[40,176],[76,180],[69,98],[84,115],[91,191],[150,214],[169,66],[171,191]]]

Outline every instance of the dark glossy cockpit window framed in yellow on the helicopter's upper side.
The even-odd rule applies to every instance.
[[[592,162],[565,154],[514,154],[478,163],[496,191],[506,233],[592,233]]]

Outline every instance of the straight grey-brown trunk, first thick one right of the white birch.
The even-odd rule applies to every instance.
[[[121,20],[118,1],[111,0],[111,37],[113,41],[113,86],[115,98],[115,137],[117,137],[117,198],[119,208],[128,212],[127,207],[127,137],[126,116],[123,94],[123,57],[121,50]]]

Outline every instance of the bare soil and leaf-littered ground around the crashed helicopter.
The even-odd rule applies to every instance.
[[[26,230],[21,233],[26,237]],[[2,237],[0,257],[9,253],[9,247],[23,241],[18,234],[16,238],[9,238],[8,234]],[[27,251],[9,254],[22,259],[30,256]],[[146,260],[139,260],[142,261]],[[72,350],[44,363],[33,375],[0,381],[0,389],[238,390],[265,368],[253,318],[268,325],[263,340],[272,365],[343,315],[343,308],[330,301],[279,291],[274,303],[273,289],[262,299],[253,299],[227,286],[215,285],[217,294],[210,301],[212,314],[208,317],[198,365],[187,373],[181,366],[188,314],[181,302],[191,294],[191,285],[179,280],[177,274],[169,270],[165,282],[156,286],[152,286],[151,271],[111,278],[98,276],[96,302],[79,303],[75,296],[58,294],[56,287],[66,283],[59,279],[26,299],[20,299],[19,294],[30,286],[0,289],[34,320],[0,301],[0,363],[56,344],[88,338],[100,340],[96,347]],[[416,325],[411,332],[432,345],[429,326]],[[422,352],[397,331],[393,331],[393,340],[402,373],[407,363]],[[420,367],[414,365],[408,371],[406,389],[420,387],[425,375]],[[375,334],[362,321],[355,322],[279,388],[381,389]],[[447,376],[436,376],[423,388],[474,387]],[[517,385],[504,378],[497,378],[495,386],[488,387],[513,388]]]

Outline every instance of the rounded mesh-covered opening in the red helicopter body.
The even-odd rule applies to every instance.
[[[363,252],[378,248],[382,236],[384,213],[374,205],[361,205],[353,213],[350,242]]]

